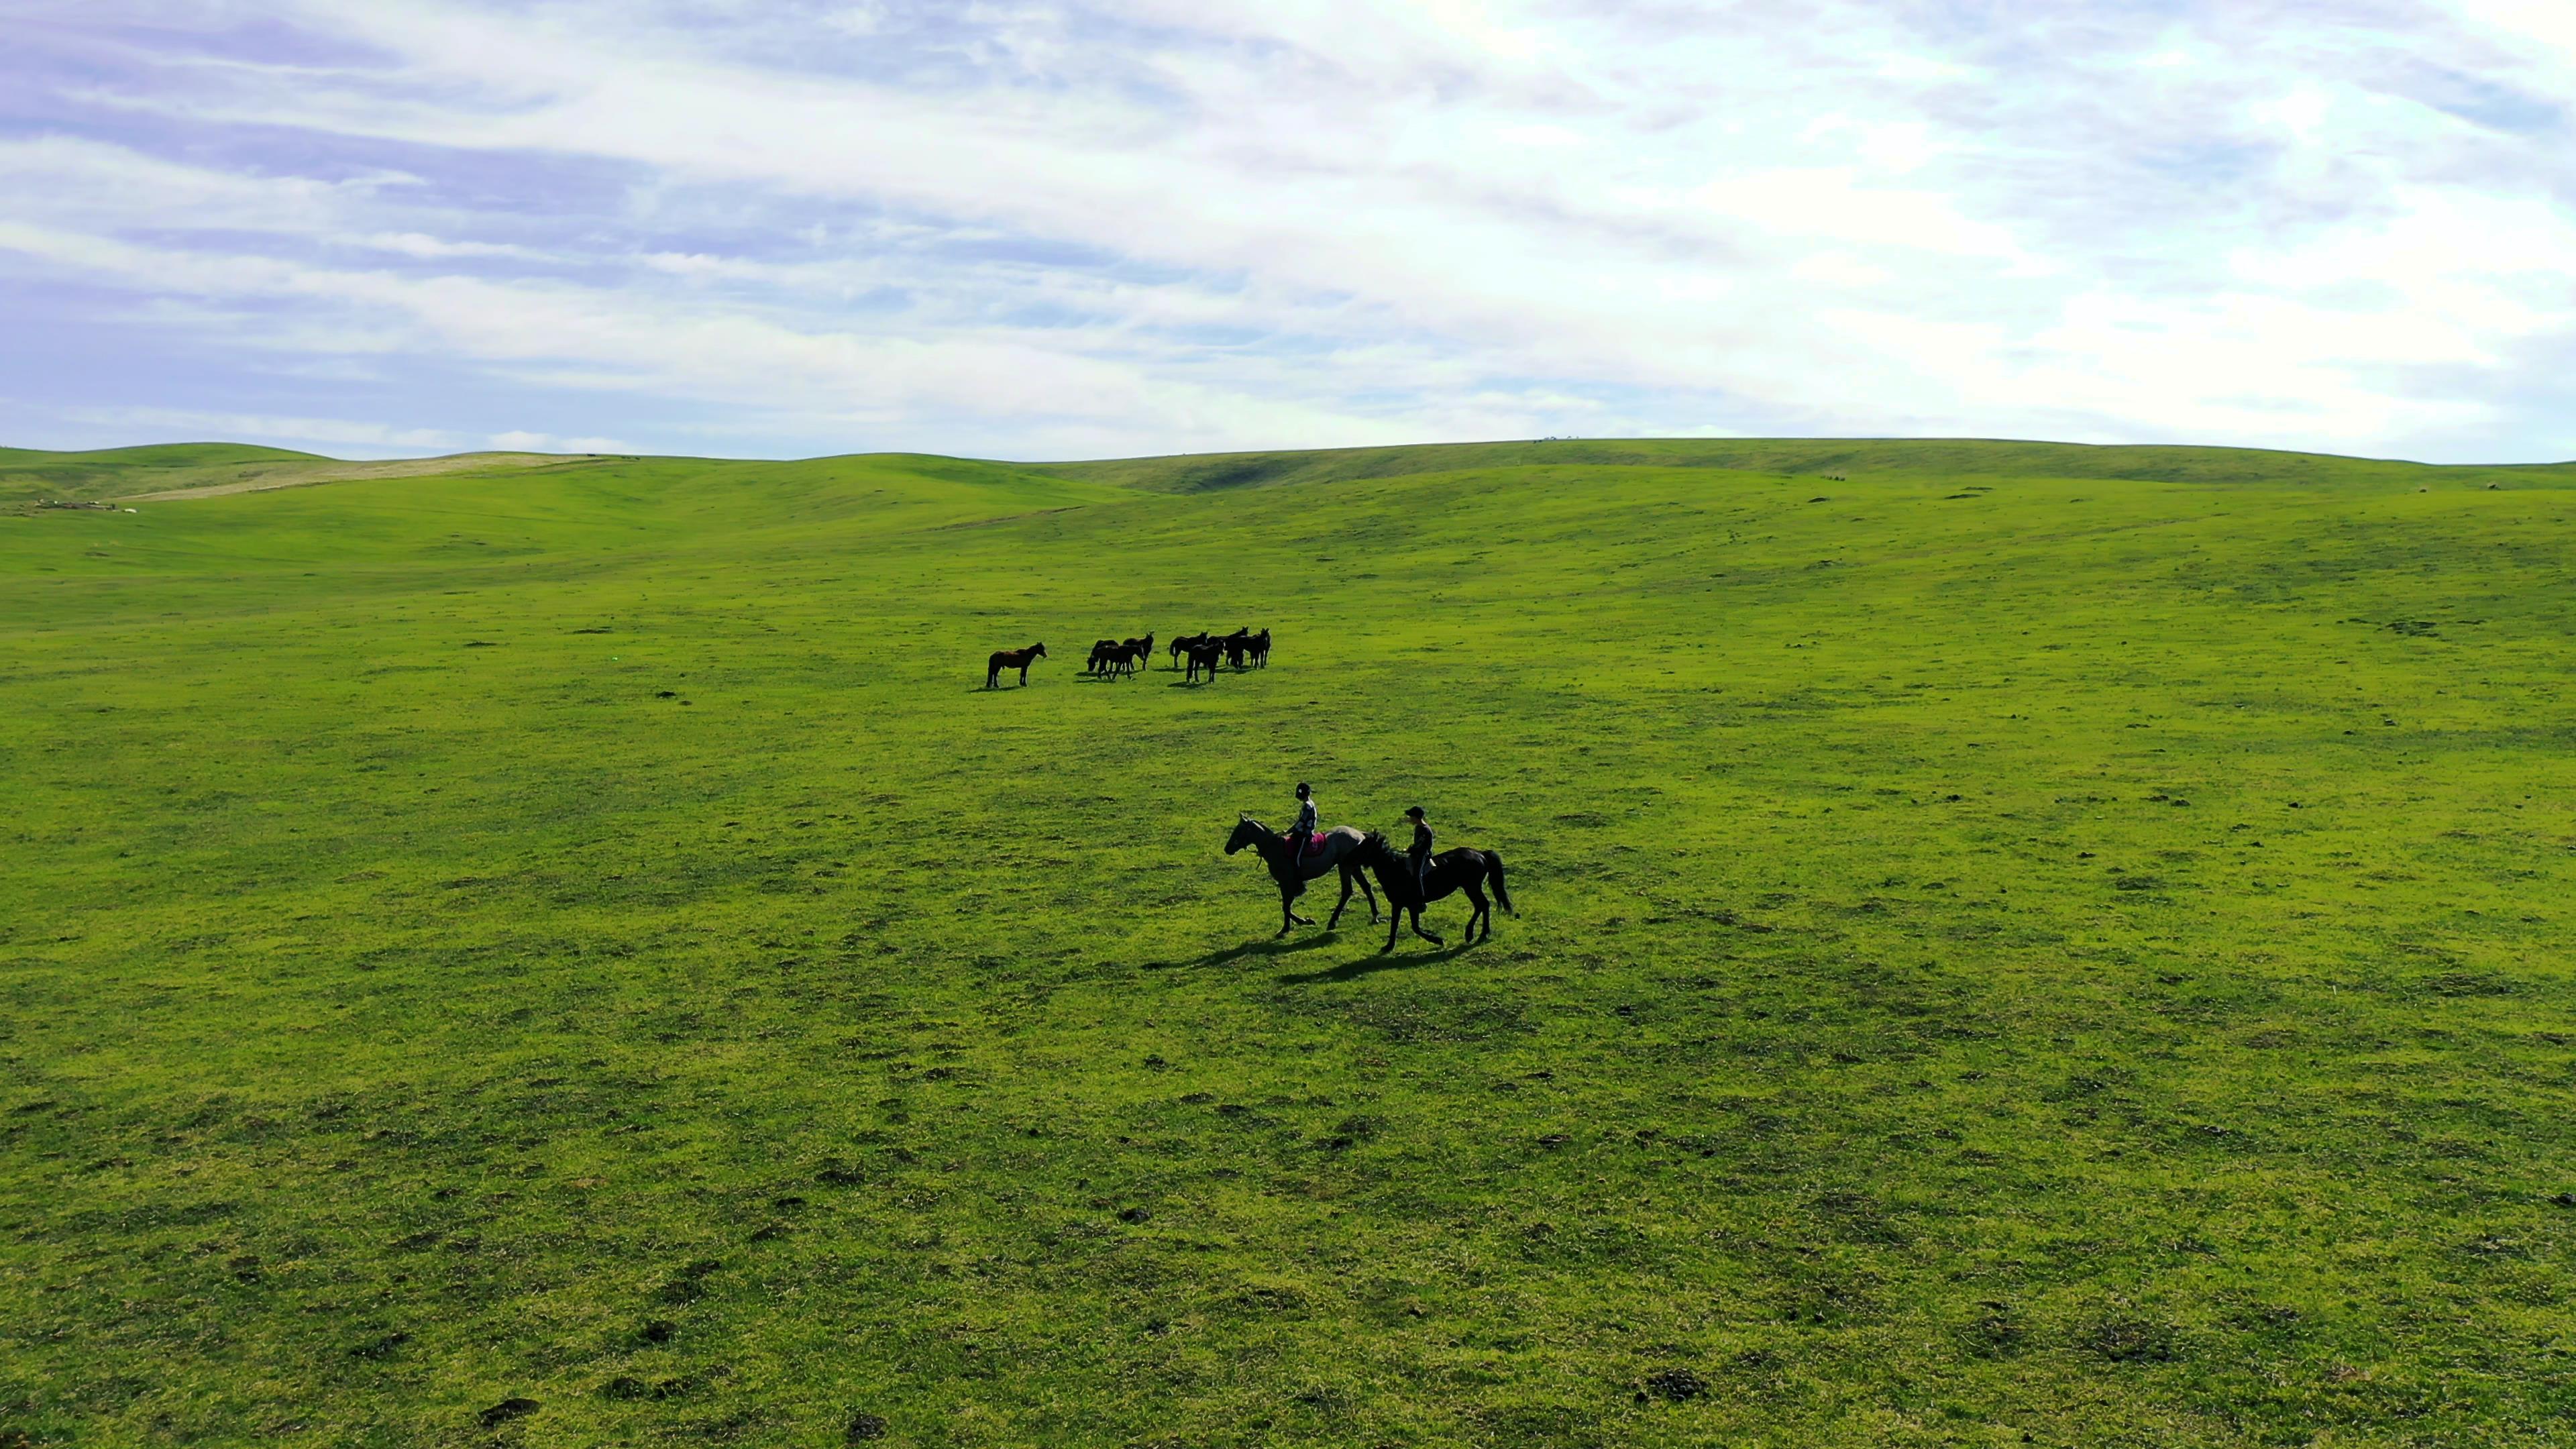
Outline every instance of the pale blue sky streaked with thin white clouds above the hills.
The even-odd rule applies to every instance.
[[[2576,459],[2576,0],[0,0],[0,443]]]

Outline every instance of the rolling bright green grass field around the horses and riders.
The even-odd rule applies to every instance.
[[[247,454],[0,456],[0,1444],[2568,1441],[2576,467]]]

